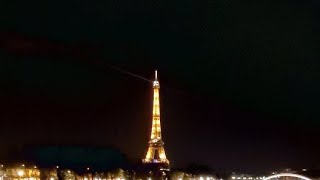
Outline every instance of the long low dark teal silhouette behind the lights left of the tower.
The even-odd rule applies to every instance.
[[[87,146],[30,146],[24,148],[21,161],[32,162],[39,167],[73,169],[82,174],[87,171],[127,169],[130,163],[126,156],[114,148]]]

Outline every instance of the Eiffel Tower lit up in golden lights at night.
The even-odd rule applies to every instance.
[[[159,89],[160,84],[157,79],[157,71],[155,71],[155,80],[153,81],[152,130],[147,155],[142,162],[144,164],[159,165],[161,168],[169,169],[169,160],[166,157],[164,143],[161,138]]]

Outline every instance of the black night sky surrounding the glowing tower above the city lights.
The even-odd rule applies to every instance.
[[[152,86],[174,167],[320,164],[317,0],[0,2],[0,157],[28,144],[142,158]]]

